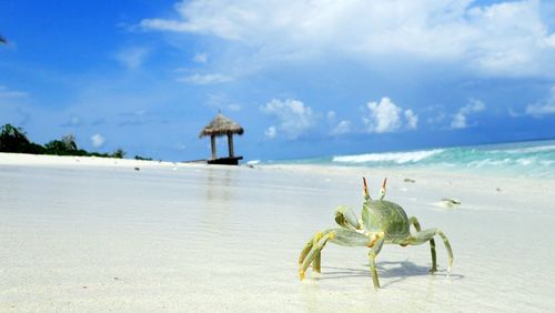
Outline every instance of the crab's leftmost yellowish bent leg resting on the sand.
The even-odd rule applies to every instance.
[[[320,270],[320,255],[327,241],[346,246],[369,246],[371,241],[369,236],[345,229],[331,229],[316,233],[316,235],[306,243],[299,258],[299,276],[304,279],[304,273],[311,263],[314,263],[314,270]],[[310,248],[309,248],[310,244]]]

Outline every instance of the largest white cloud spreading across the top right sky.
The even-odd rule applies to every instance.
[[[555,75],[555,34],[537,0],[196,0],[175,10],[178,19],[144,19],[141,27],[244,43],[274,62],[291,55],[408,55],[455,61],[484,74]]]

